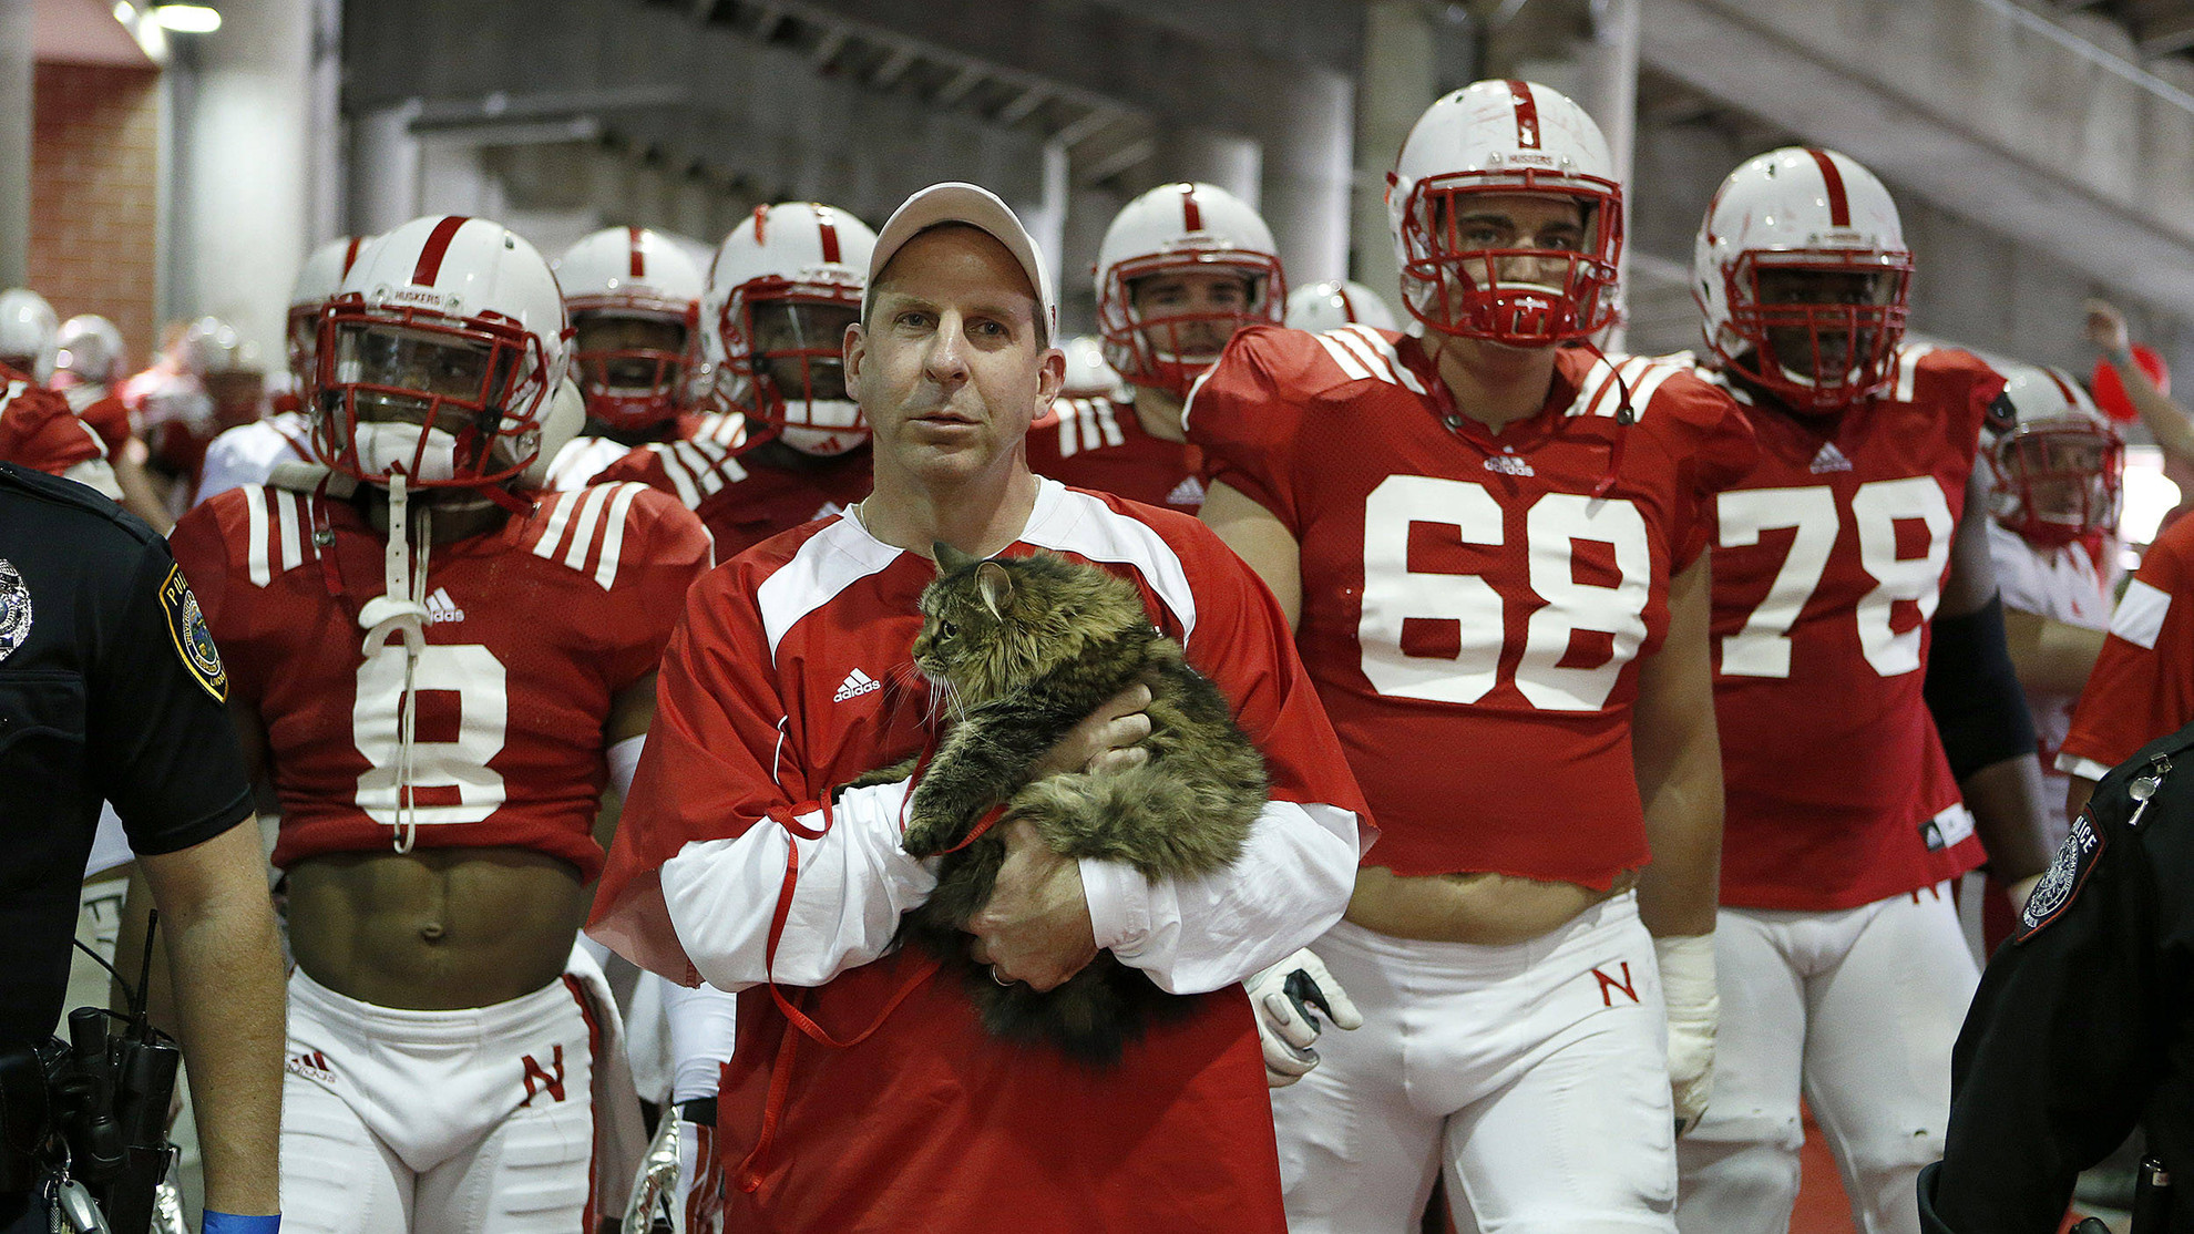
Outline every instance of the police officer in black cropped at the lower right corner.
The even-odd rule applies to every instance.
[[[2194,725],[2104,776],[1988,962],[1920,1221],[2049,1234],[2135,1124],[2165,1177],[2194,1168]],[[2194,1232],[2194,1186],[2144,1201],[2137,1234]]]

